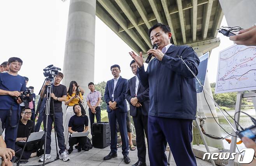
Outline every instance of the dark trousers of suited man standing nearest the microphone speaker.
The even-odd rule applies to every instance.
[[[146,143],[145,135],[147,138],[147,147],[149,152],[149,139],[147,134],[147,117],[142,114],[141,108],[137,108],[137,115],[133,117],[133,123],[136,131],[136,145],[138,149],[138,159],[139,161],[146,162]]]

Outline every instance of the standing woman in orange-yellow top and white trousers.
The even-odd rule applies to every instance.
[[[64,117],[64,137],[65,137],[65,145],[68,143],[68,122],[70,117],[74,114],[73,106],[75,104],[79,104],[79,101],[82,103],[83,96],[78,89],[77,82],[71,81],[68,88],[67,100],[65,101],[65,105],[67,105],[66,114]]]

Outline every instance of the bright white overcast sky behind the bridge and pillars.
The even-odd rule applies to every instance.
[[[16,56],[23,60],[19,75],[30,80],[28,86],[38,93],[44,82],[43,69],[53,64],[63,68],[69,0],[4,0],[0,2],[0,63]],[[221,25],[226,26],[223,19]],[[219,51],[233,44],[228,37],[218,34],[221,44],[212,50],[208,72],[210,82],[216,82]],[[112,43],[117,45],[111,54],[105,52]],[[101,47],[101,49],[98,49]],[[133,77],[130,70],[132,49],[109,27],[96,17],[95,83],[112,79],[109,67],[119,64],[120,75]],[[86,67],[86,66],[85,66]],[[65,76],[64,76],[65,77]]]

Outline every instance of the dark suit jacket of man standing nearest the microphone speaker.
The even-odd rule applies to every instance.
[[[137,107],[131,104],[131,99],[135,97],[135,76],[128,80],[128,85],[125,93],[125,98],[130,104],[130,115],[137,116]],[[143,115],[148,115],[149,112],[149,88],[143,87],[139,82],[137,91],[137,99],[142,105],[141,111]],[[139,110],[138,110],[139,111]]]

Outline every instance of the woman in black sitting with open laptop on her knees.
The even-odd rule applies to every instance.
[[[85,112],[81,111],[81,107],[79,104],[75,104],[73,106],[73,111],[75,115],[73,115],[68,123],[68,132],[69,133],[78,133],[78,132],[86,132],[88,130],[88,117],[85,115]],[[79,137],[71,137],[69,136],[69,149],[68,154],[73,151],[73,146],[78,144],[78,152],[81,152],[82,146],[87,140],[87,136],[79,136]]]

